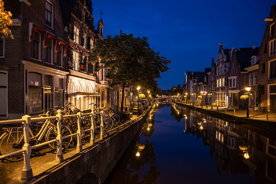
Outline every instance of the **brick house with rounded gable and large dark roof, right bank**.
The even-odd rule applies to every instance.
[[[253,87],[257,85],[257,75],[250,74],[250,79],[248,78],[248,71],[245,68],[251,66],[251,60],[254,60],[253,65],[256,64],[256,58],[259,54],[258,47],[248,47],[248,48],[239,48],[235,47],[231,50],[231,59],[229,70],[227,73],[227,97],[228,97],[228,107],[230,108],[245,108],[245,100],[241,100],[240,96],[245,94],[246,87]],[[253,59],[251,59],[251,57]],[[256,58],[256,60],[255,60]],[[254,78],[253,78],[254,75]],[[252,77],[252,78],[251,78]],[[250,85],[250,86],[249,86]],[[253,109],[255,91],[250,91],[250,104],[251,109]]]

